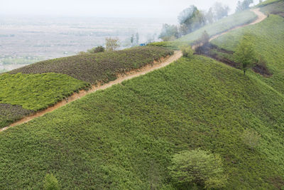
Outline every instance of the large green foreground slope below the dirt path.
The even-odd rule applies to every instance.
[[[0,133],[0,189],[40,189],[48,172],[65,189],[170,188],[171,156],[198,147],[222,155],[228,189],[273,189],[284,174],[283,108],[251,73],[181,58]],[[245,128],[261,134],[255,151]]]

